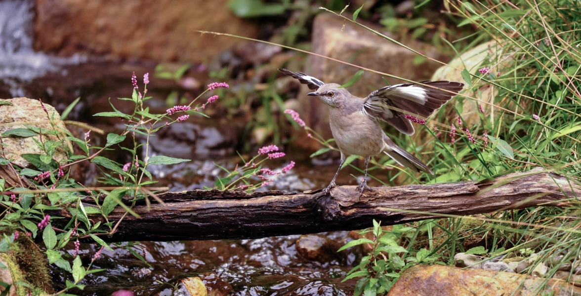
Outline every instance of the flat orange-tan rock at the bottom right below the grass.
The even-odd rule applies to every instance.
[[[548,284],[540,289],[544,280],[510,272],[416,265],[401,274],[388,296],[514,295],[515,291],[521,296],[551,291],[554,296],[581,295],[581,288],[557,279],[549,279]]]

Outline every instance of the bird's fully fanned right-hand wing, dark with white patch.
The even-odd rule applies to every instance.
[[[434,110],[439,109],[457,95],[464,86],[460,82],[450,81],[422,81],[420,83],[425,85],[407,83],[380,88],[365,98],[361,112],[370,118],[388,122],[406,135],[413,135],[414,127],[404,117],[405,114],[392,110],[390,107],[428,117]]]

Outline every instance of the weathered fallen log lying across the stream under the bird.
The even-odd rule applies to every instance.
[[[159,195],[166,204],[151,204],[149,211],[145,203],[137,204],[133,210],[141,218],[128,214],[113,236],[101,238],[109,242],[256,239],[364,229],[372,226],[372,219],[393,225],[439,218],[436,214],[482,214],[538,205],[564,207],[576,203],[580,195],[578,182],[539,170],[482,182],[374,187],[361,196],[355,186],[335,187],[328,194],[321,190],[168,192]],[[66,210],[59,214],[71,216]],[[119,221],[124,214],[118,206],[109,221]],[[89,218],[103,221],[100,215]]]

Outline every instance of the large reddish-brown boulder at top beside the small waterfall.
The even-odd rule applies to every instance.
[[[256,37],[257,26],[227,9],[228,0],[36,0],[35,48],[110,54],[157,62],[200,62],[241,42],[196,30]]]

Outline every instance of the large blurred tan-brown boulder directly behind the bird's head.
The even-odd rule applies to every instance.
[[[383,32],[381,27],[375,24],[365,23],[376,31]],[[343,19],[329,13],[321,13],[315,17],[313,23],[313,52],[319,55],[332,57],[333,59],[349,61],[374,70],[397,75],[399,77],[421,81],[429,78],[433,71],[439,67],[439,63],[429,62],[414,63],[417,54],[405,49],[391,41],[383,39],[365,28],[347,22],[343,28]],[[385,33],[389,35],[389,33]],[[406,44],[415,50],[435,59],[446,59],[440,56],[433,46],[421,42],[408,42]],[[299,69],[291,69],[299,70]],[[349,81],[359,69],[346,64],[334,62],[317,56],[309,56],[304,73],[313,75],[320,80],[331,83],[344,84]],[[390,84],[401,83],[394,78],[386,79]],[[386,86],[381,75],[365,72],[361,80],[349,88],[353,95],[365,97],[374,90]],[[299,99],[303,106],[301,113],[311,128],[317,132],[323,132],[324,138],[331,137],[329,128],[327,106],[318,99],[306,96],[308,89],[303,86],[299,93]],[[298,110],[297,110],[298,111]]]

